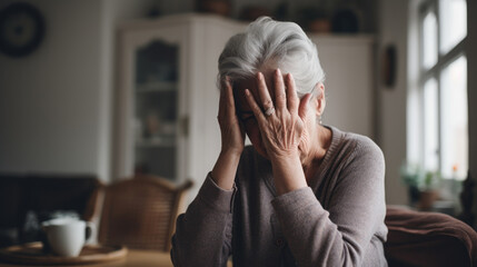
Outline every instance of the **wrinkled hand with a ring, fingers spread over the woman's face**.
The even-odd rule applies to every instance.
[[[275,101],[261,72],[257,73],[259,102],[248,89],[246,98],[258,122],[268,157],[274,162],[300,156],[298,145],[311,95],[306,95],[300,101],[292,76],[288,73],[284,78],[279,69],[274,72],[272,80]]]

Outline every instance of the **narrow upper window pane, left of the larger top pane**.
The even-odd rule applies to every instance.
[[[423,63],[429,69],[437,62],[437,19],[428,12],[423,22]]]

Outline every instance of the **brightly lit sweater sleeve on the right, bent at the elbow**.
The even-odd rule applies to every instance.
[[[358,145],[339,172],[328,210],[309,187],[272,200],[298,266],[361,265],[386,215],[382,152],[367,145]]]

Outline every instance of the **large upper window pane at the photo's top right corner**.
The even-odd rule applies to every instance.
[[[440,52],[446,53],[467,36],[466,0],[440,0]]]

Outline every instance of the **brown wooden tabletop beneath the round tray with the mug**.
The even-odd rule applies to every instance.
[[[0,267],[18,267],[20,265],[3,264],[0,263]],[[24,266],[24,265],[21,265]],[[88,267],[125,267],[125,266],[141,266],[141,267],[172,267],[170,260],[170,254],[160,253],[153,250],[135,250],[129,249],[128,255],[123,259],[116,261],[103,263],[99,265],[74,265],[74,266],[88,266]]]

